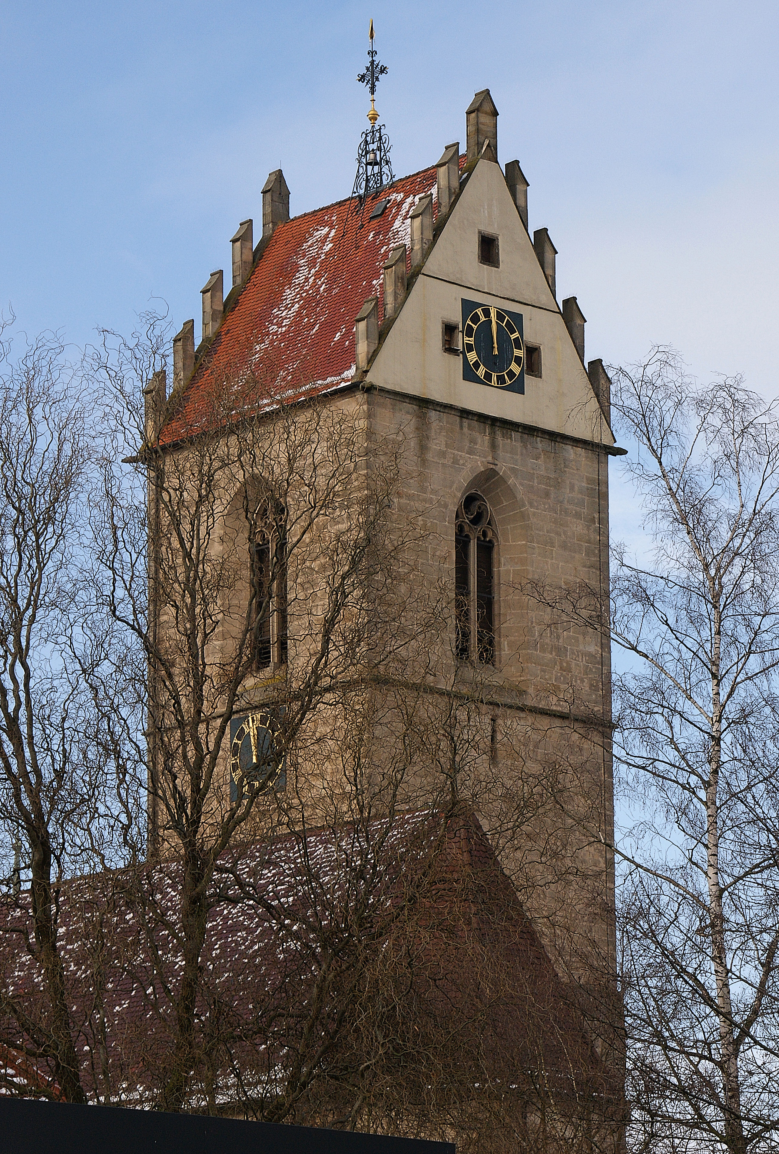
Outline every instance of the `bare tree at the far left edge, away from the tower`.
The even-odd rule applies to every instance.
[[[39,337],[16,358],[7,340],[0,377],[0,823],[7,868],[12,857],[14,864],[2,943],[3,962],[15,950],[27,957],[40,996],[31,998],[3,965],[2,1034],[75,1102],[84,1101],[75,1046],[82,1022],[73,1016],[61,954],[62,885],[73,872],[117,863],[114,819],[122,809],[81,677],[99,660],[82,629],[89,615],[82,545],[91,440],[89,402],[59,338]]]

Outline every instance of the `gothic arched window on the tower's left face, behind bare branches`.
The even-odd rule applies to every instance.
[[[263,501],[250,545],[252,660],[256,668],[284,665],[287,650],[286,532],[284,507]]]

